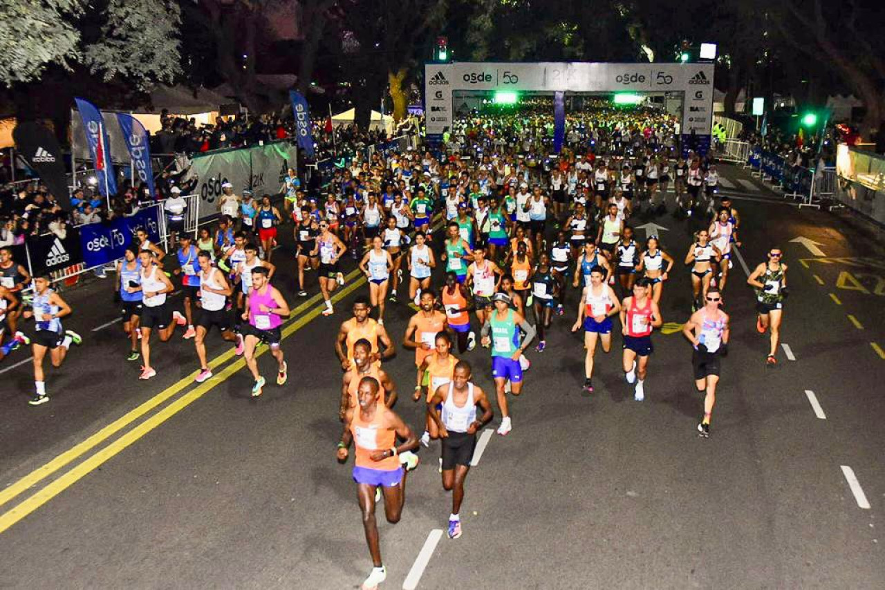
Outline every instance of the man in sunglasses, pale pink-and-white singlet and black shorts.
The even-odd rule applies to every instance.
[[[704,393],[704,418],[697,425],[698,436],[710,436],[710,418],[716,403],[716,387],[720,379],[720,356],[728,354],[728,316],[719,309],[722,296],[719,289],[710,287],[704,295],[704,307],[691,314],[682,327],[694,350],[691,364],[695,372],[695,387]]]

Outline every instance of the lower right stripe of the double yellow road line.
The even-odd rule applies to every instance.
[[[332,298],[333,303],[350,295],[351,291],[360,287],[364,283],[366,283],[365,277],[342,288],[342,290]],[[288,338],[291,334],[296,333],[298,330],[306,326],[314,318],[319,316],[324,307],[325,306],[318,306],[314,308],[299,318],[295,324],[287,326],[282,331],[281,339]],[[261,356],[266,350],[266,348],[258,350],[256,356]],[[4,533],[9,527],[18,523],[19,520],[27,517],[27,515],[40,508],[43,504],[64,492],[68,487],[73,486],[74,483],[86,476],[90,471],[94,471],[97,467],[103,465],[124,448],[127,448],[135,441],[138,441],[145,434],[150,433],[154,428],[163,424],[169,418],[172,418],[179,411],[187,408],[191,403],[196,402],[196,400],[211,391],[213,387],[218,386],[245,366],[245,358],[239,358],[234,363],[228,364],[227,367],[218,374],[216,379],[210,379],[198,387],[191,389],[187,394],[182,395],[180,398],[167,405],[163,410],[159,410],[156,414],[120,436],[116,441],[112,441],[108,446],[86,458],[81,464],[75,465],[70,471],[66,471],[58,479],[55,479],[45,487],[42,487],[42,489],[37,491],[34,495],[28,497],[27,500],[19,502],[14,508],[7,510],[2,516],[0,516],[0,533]]]

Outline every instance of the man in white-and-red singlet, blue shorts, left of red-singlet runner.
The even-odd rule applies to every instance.
[[[612,349],[612,317],[620,313],[620,303],[612,292],[612,287],[604,283],[604,270],[596,266],[590,271],[590,283],[581,292],[578,302],[578,319],[572,332],[584,328],[584,386],[583,391],[593,393],[593,357],[596,355],[596,341],[602,341],[603,352]]]

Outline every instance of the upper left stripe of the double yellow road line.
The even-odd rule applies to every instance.
[[[346,280],[351,280],[358,274],[361,275],[362,272],[359,270],[350,272]],[[296,314],[311,307],[314,303],[319,303],[321,297],[322,295],[320,294],[313,295],[310,299],[296,307],[295,310],[292,310],[287,323],[294,321],[296,319]],[[212,359],[212,361],[209,363],[209,368],[214,369],[220,364],[226,363],[232,356],[234,356],[234,354],[234,349],[227,349],[227,351]],[[70,464],[72,461],[82,456],[84,453],[89,452],[90,449],[95,448],[97,445],[106,441],[108,438],[113,436],[115,433],[118,433],[127,425],[135,422],[135,420],[137,420],[138,418],[142,418],[142,416],[150,412],[150,410],[153,410],[161,403],[173,397],[173,395],[178,394],[185,387],[192,385],[194,383],[194,378],[196,377],[196,374],[196,371],[192,372],[188,376],[174,383],[173,385],[166,387],[163,391],[161,391],[157,395],[154,395],[146,402],[142,402],[142,404],[137,406],[134,410],[129,410],[126,414],[124,414],[120,418],[117,418],[111,424],[104,426],[104,428],[99,430],[97,433],[89,436],[89,438],[87,438],[85,441],[77,443],[61,455],[53,458],[49,463],[42,465],[42,467],[38,467],[34,471],[28,473],[22,479],[16,481],[11,486],[5,487],[3,490],[0,490],[0,506],[5,504],[6,502],[9,502],[10,500],[12,500],[12,498],[21,494],[22,492],[25,492],[30,487],[33,487],[42,479],[49,477],[65,465]]]

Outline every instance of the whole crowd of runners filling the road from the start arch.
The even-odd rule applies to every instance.
[[[552,154],[550,123],[538,114],[473,115],[458,121],[442,149],[356,159],[327,178],[319,194],[308,194],[290,171],[280,208],[267,195],[255,201],[228,187],[216,226],[201,228],[196,239],[180,234],[168,253],[139,233],[117,266],[126,358],[140,362],[139,379],[157,374],[151,359],[162,347],[156,341],[151,347],[152,334],[169,341],[177,327],[194,341],[196,381],[212,377],[205,341],[215,326],[245,356],[254,396],[266,386],[256,362],[262,344],[276,362],[277,385],[287,380],[280,344],[289,303],[271,284],[271,258],[283,256],[283,250],[274,254],[282,229],[292,232],[296,259],[296,285],[282,290],[304,297],[312,288],[306,277],[315,274],[323,315],[340,314],[333,294],[345,282],[344,259],[365,274],[366,294],[342,322],[335,353],[343,371],[337,457],[345,461],[355,444],[353,478],[373,560],[366,588],[386,577],[375,503],[383,496],[388,520],[399,519],[406,473],[419,463],[414,451],[420,445],[440,441],[443,487],[452,491],[448,533],[461,535],[477,433],[494,411],[500,413],[496,432],[512,431],[508,400],[526,393],[526,352],[573,356],[548,345],[553,318],[566,316],[560,329],[583,333],[580,387],[588,396],[597,349],[608,353],[620,330],[620,371],[642,402],[665,291],[681,288],[672,286],[678,272],[690,276],[691,309],[679,319],[689,317],[682,333],[696,389],[704,394],[697,433],[710,435],[729,341],[724,294],[735,288],[729,269],[741,243],[741,218],[730,199],[718,195],[716,166],[691,151],[683,157],[673,120],[658,111],[575,114],[558,154]],[[666,251],[657,235],[644,241],[635,235],[637,219],[668,207],[699,227],[684,254]],[[747,281],[756,290],[757,329],[770,332],[769,365],[777,363],[786,271],[781,250],[772,248]],[[32,282],[33,295],[23,301],[19,295]],[[177,289],[183,298],[173,309],[179,306],[169,296]],[[391,305],[414,308],[402,333],[385,325]],[[42,368],[47,350],[58,366],[70,345],[81,343],[62,326],[70,313],[48,277],[32,281],[10,250],[0,249],[0,358],[31,345],[34,405],[49,401]],[[34,323],[23,326],[29,318]],[[398,395],[402,387],[382,368],[395,356],[396,342],[414,350],[411,396]],[[482,350],[474,351],[477,345]],[[472,380],[489,365],[494,395]],[[427,406],[415,430],[393,410],[401,397],[401,404],[411,397]]]

